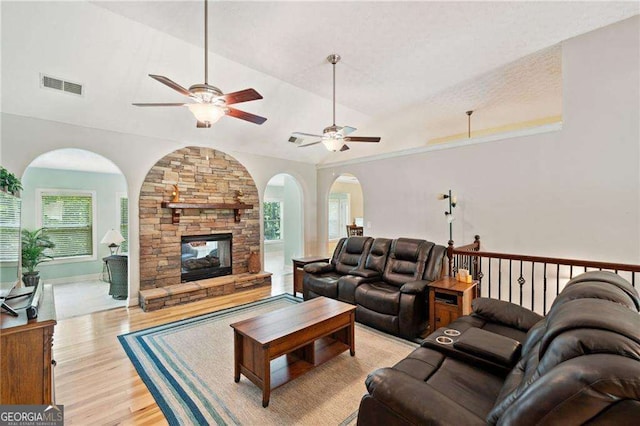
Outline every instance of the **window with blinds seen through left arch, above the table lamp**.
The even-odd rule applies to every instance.
[[[56,245],[54,258],[94,257],[94,200],[91,191],[38,190],[40,226]]]

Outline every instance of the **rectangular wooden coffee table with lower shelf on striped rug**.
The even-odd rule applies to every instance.
[[[355,355],[356,307],[318,297],[231,324],[234,380],[240,373],[262,389],[262,406],[275,389],[350,350]]]

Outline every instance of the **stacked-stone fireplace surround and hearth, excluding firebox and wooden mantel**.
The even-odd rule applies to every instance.
[[[252,204],[239,222],[233,210],[185,209],[180,223],[162,208],[171,201],[173,185],[183,203]],[[271,285],[269,273],[249,274],[248,260],[260,251],[260,200],[251,175],[235,158],[204,147],[186,147],[158,161],[140,191],[140,304],[145,310],[229,292]],[[233,234],[233,275],[180,283],[180,239],[187,235]]]

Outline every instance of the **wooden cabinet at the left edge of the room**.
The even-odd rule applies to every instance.
[[[25,299],[7,304],[21,307]],[[0,404],[54,404],[51,347],[56,309],[51,285],[43,288],[37,318],[28,321],[24,309],[18,313],[18,317],[0,314]]]

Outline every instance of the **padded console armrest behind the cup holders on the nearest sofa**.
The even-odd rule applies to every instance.
[[[506,367],[515,365],[522,349],[522,345],[517,340],[480,328],[466,330],[453,343],[453,347]]]

